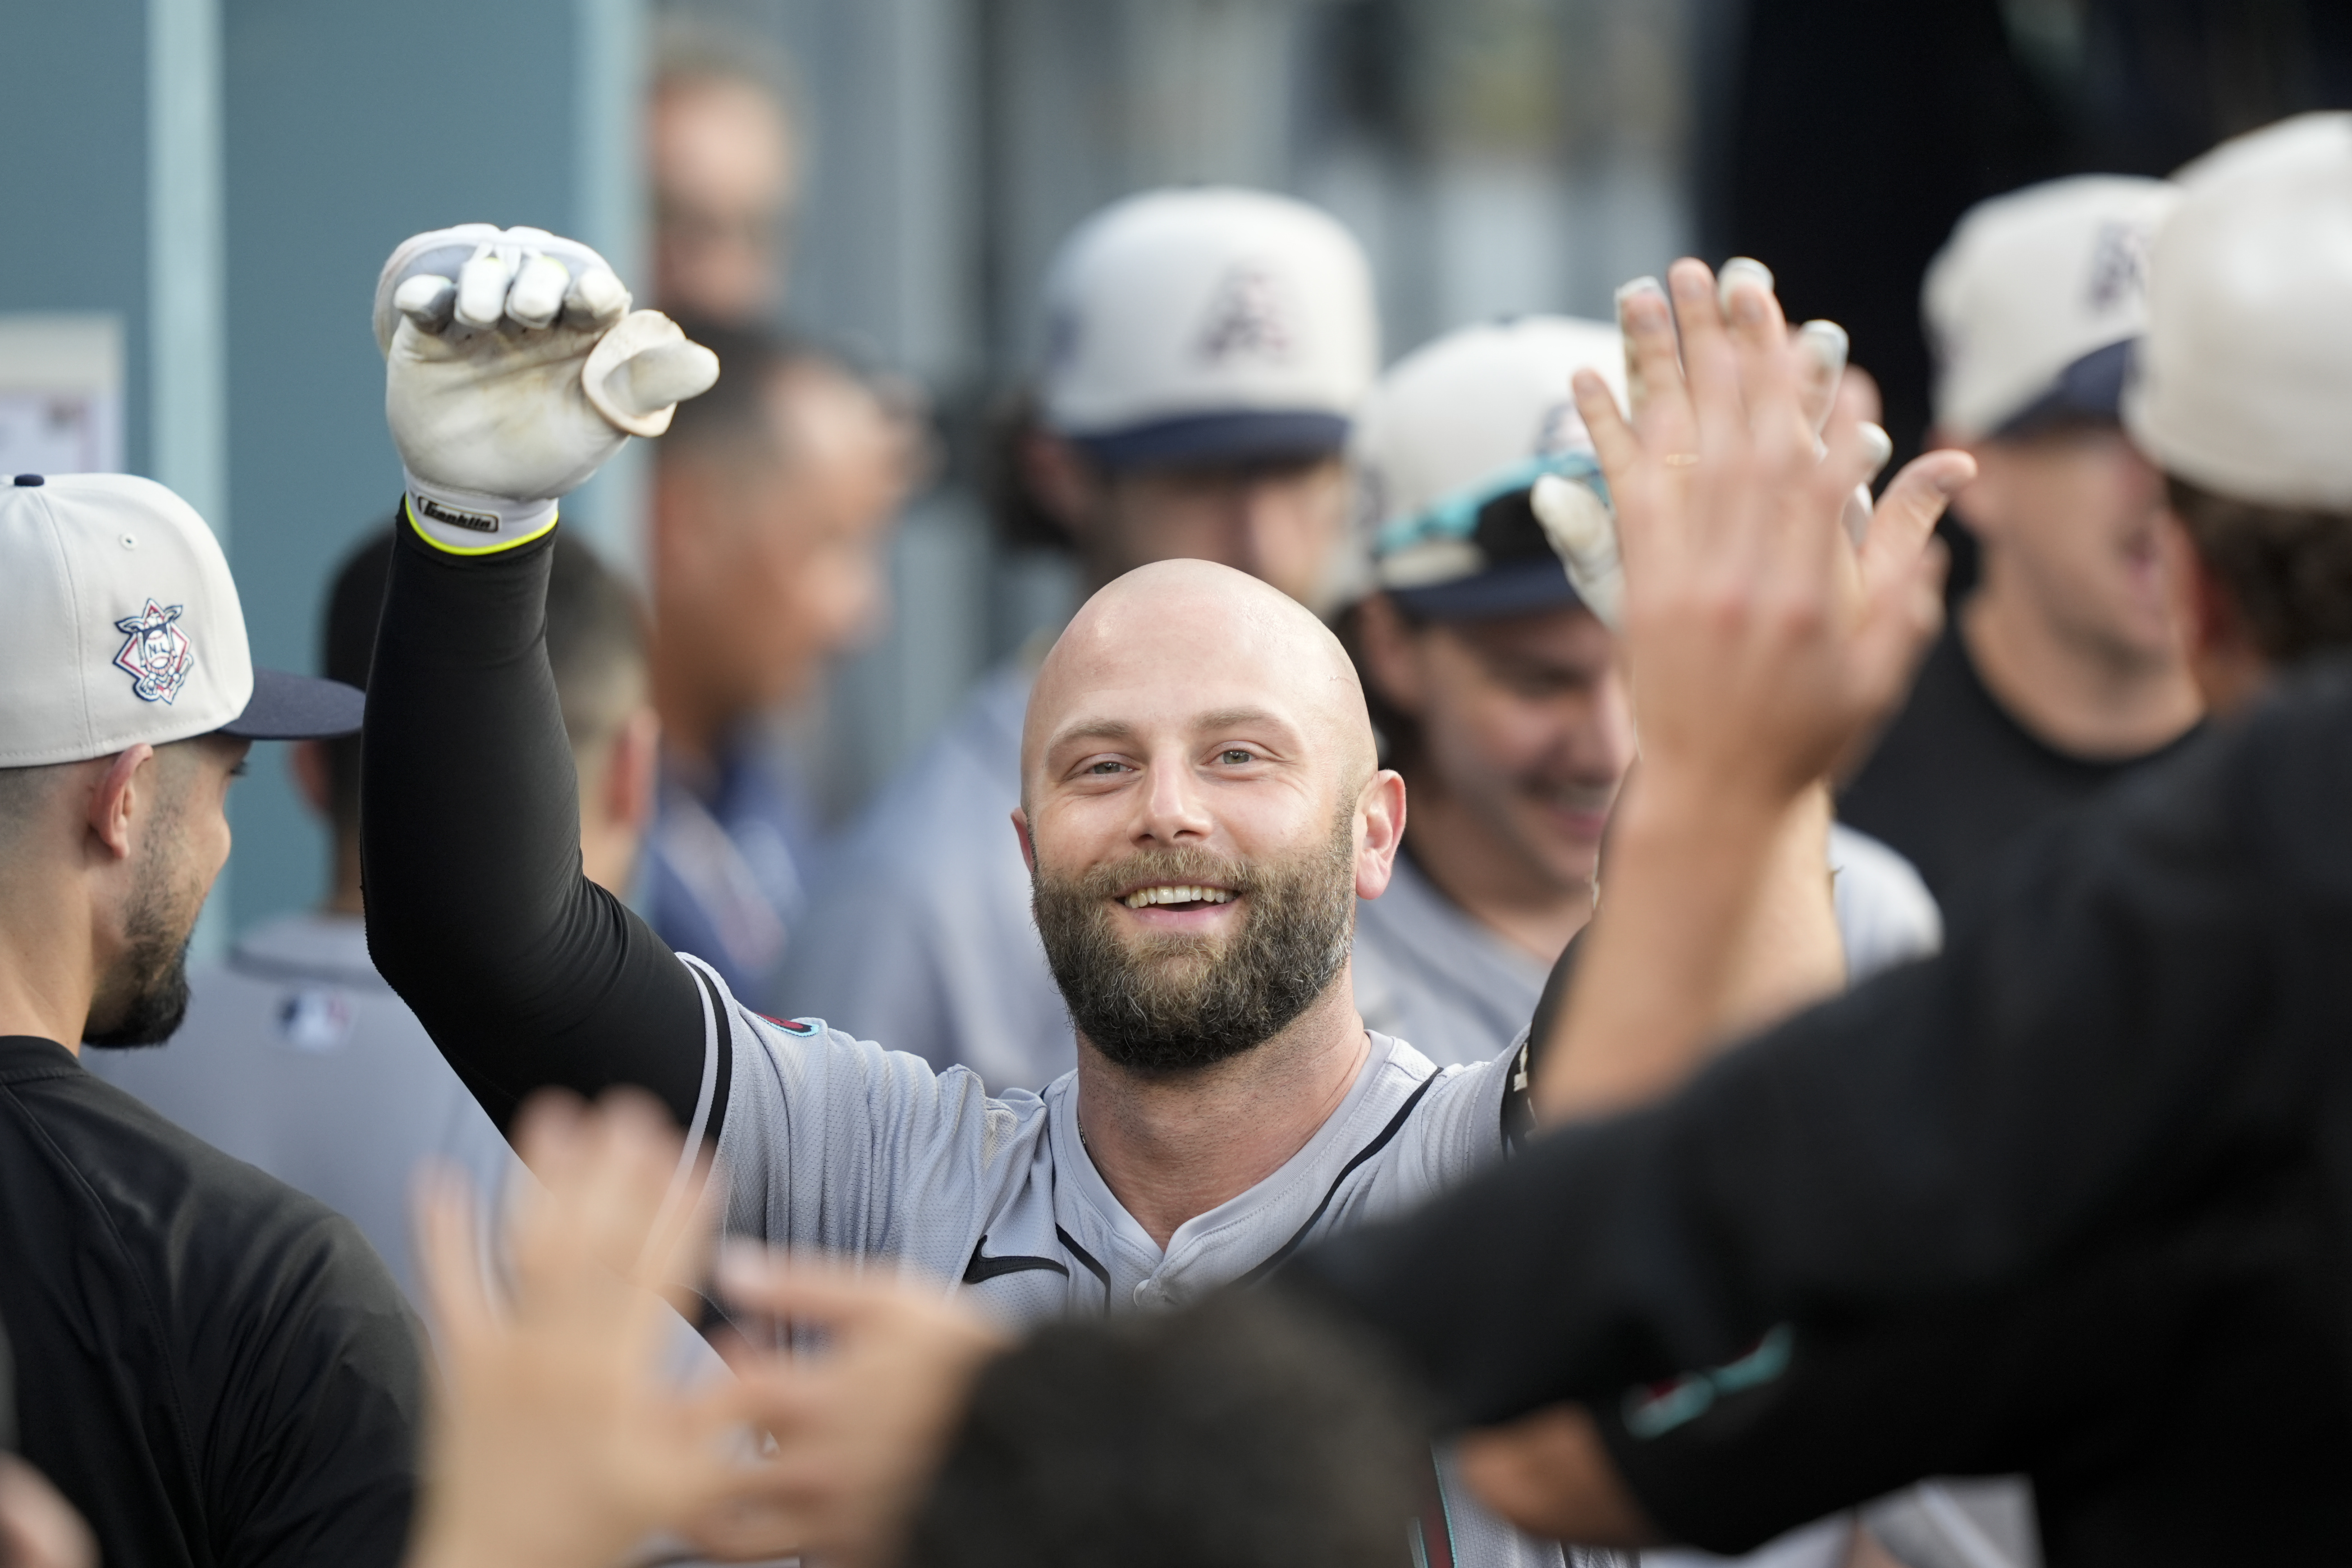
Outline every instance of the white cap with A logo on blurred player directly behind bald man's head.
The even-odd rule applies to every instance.
[[[1263,190],[1115,202],[1044,294],[1044,423],[1108,468],[1338,451],[1378,369],[1362,247]]]

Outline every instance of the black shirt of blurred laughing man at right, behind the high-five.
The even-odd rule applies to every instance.
[[[1955,919],[2020,832],[2178,755],[2197,733],[2190,729],[2140,757],[2060,752],[1992,696],[1955,616],[1903,712],[1839,792],[1837,816],[1917,865],[1945,919]]]

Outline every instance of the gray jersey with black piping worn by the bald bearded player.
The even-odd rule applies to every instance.
[[[703,1105],[727,1074],[727,1227],[771,1246],[896,1258],[1011,1326],[1197,1300],[1317,1237],[1411,1208],[1503,1152],[1508,1056],[1432,1067],[1371,1034],[1355,1084],[1305,1147],[1162,1248],[1087,1154],[1075,1072],[1042,1093],[990,1098],[969,1067],[934,1072],[816,1018],[762,1018],[687,961],[710,1006]],[[1465,1495],[1449,1497],[1449,1530],[1461,1563],[1564,1561]]]

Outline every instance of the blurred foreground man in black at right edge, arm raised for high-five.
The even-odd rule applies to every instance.
[[[1461,1420],[1524,1418],[1468,1465],[1534,1528],[1736,1547],[1922,1469],[2018,1465],[2053,1568],[2352,1561],[2352,115],[2178,181],[2124,416],[2192,545],[2190,665],[2220,733],[2006,856],[1940,959],[1305,1265]],[[1736,411],[1722,355],[1686,360],[1717,376],[1700,407]],[[1743,595],[1675,569],[1722,520],[1759,562],[1806,559],[1757,527],[1804,487],[1708,423],[1712,508],[1663,482],[1691,449],[1663,421],[1602,440],[1628,548],[1663,567],[1644,588],[1628,564],[1658,595],[1637,658],[1679,686],[1651,689],[1691,748],[1649,745],[1639,788],[1703,773],[1613,844],[1595,938],[1646,966],[1595,945],[1571,992],[1571,1023],[1646,1023],[1623,1067],[1686,1046],[1668,999],[1724,973],[1717,910],[1762,856],[1755,825],[1724,827],[1769,820],[1882,684],[1844,616],[1769,635],[1785,581],[1731,614]],[[1809,527],[1830,498],[1806,496]],[[1691,832],[1705,858],[1677,853]],[[1578,1037],[1588,1067],[1609,1037]],[[1564,1399],[1590,1413],[1538,1410]]]

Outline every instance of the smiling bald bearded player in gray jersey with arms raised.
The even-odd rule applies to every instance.
[[[550,263],[572,268],[562,315]],[[988,1098],[967,1067],[762,1018],[588,882],[543,646],[553,496],[619,418],[654,433],[649,404],[710,376],[652,313],[595,315],[619,294],[595,268],[534,230],[468,230],[409,240],[379,289],[409,496],[367,698],[367,931],[501,1126],[546,1084],[644,1086],[689,1147],[717,1143],[729,1229],[898,1258],[1009,1324],[1265,1276],[1501,1154],[1526,1093],[1512,1053],[1435,1070],[1355,1011],[1355,900],[1388,886],[1404,783],[1348,654],[1228,567],[1129,571],[1037,672],[1011,820],[1080,1058],[1042,1093]],[[572,362],[588,397],[546,369]],[[1811,931],[1835,985],[1818,846],[1795,867],[1780,952]],[[1468,1497],[1418,1512],[1432,1561],[1562,1561]]]

